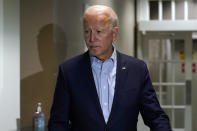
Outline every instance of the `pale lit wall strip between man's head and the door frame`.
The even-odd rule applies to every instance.
[[[119,16],[119,36],[116,47],[119,51],[134,55],[134,31],[135,31],[135,2],[134,0],[116,0],[114,9]]]

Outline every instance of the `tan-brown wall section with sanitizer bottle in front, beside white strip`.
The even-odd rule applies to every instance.
[[[32,127],[37,103],[47,125],[56,76],[54,0],[20,0],[21,128]]]

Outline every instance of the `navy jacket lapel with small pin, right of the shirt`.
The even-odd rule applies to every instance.
[[[119,110],[118,110],[117,104],[118,104],[118,101],[120,100],[119,90],[121,89],[121,87],[123,87],[125,83],[124,79],[126,77],[126,74],[127,74],[126,61],[124,61],[124,59],[122,58],[122,55],[117,51],[116,85],[115,85],[115,92],[114,92],[111,113],[110,113],[107,124],[110,124],[110,122],[112,122],[113,120],[113,117],[118,114]]]

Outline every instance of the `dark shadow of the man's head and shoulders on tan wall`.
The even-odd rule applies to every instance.
[[[66,54],[64,34],[61,28],[53,24],[40,29],[37,44],[42,71],[21,80],[21,128],[33,126],[33,116],[38,102],[42,103],[45,124],[48,123],[58,65]],[[60,41],[54,41],[54,36],[58,36],[57,39]]]

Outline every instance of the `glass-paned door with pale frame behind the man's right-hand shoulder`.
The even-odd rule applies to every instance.
[[[138,54],[148,65],[173,131],[191,131],[191,32],[147,32],[141,36]]]

